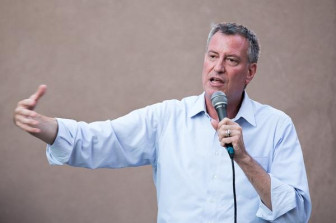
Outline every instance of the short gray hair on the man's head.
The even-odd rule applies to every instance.
[[[245,37],[247,41],[249,42],[249,48],[248,48],[248,61],[249,63],[257,63],[259,58],[259,51],[260,46],[258,43],[257,36],[246,28],[245,26],[238,25],[236,23],[218,23],[212,25],[212,28],[210,30],[208,40],[207,40],[207,48],[209,45],[209,42],[213,35],[215,35],[217,32],[221,32],[224,35],[240,35],[242,37]]]

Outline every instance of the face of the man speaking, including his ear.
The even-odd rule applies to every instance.
[[[215,91],[226,94],[228,102],[239,103],[245,86],[253,79],[256,64],[248,62],[248,41],[240,35],[217,32],[204,57],[202,83],[206,98]]]

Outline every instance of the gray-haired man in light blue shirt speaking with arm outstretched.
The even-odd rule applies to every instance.
[[[215,25],[208,37],[204,93],[84,123],[34,111],[46,86],[18,103],[15,123],[45,141],[51,164],[88,168],[152,165],[158,222],[233,222],[232,143],[238,222],[307,222],[311,202],[301,147],[291,119],[251,100],[259,45],[246,27]],[[228,118],[211,104],[227,95]],[[218,139],[220,143],[218,143]]]

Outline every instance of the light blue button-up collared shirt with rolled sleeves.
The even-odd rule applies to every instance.
[[[231,161],[210,120],[204,93],[115,120],[57,119],[57,138],[47,146],[47,157],[53,165],[86,168],[152,165],[158,223],[232,223]],[[243,129],[247,152],[271,177],[272,211],[235,164],[238,222],[307,222],[311,201],[291,119],[245,92],[233,120]]]

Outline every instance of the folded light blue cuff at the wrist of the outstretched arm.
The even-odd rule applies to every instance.
[[[58,132],[52,145],[47,145],[46,155],[50,165],[63,165],[68,162],[74,144],[77,122],[57,118]]]

